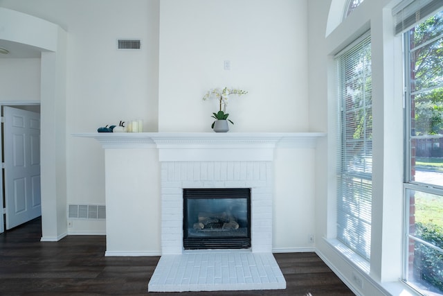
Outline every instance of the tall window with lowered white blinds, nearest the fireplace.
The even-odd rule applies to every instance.
[[[339,124],[337,239],[370,259],[372,76],[367,34],[336,57]]]

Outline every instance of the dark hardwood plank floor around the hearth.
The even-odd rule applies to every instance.
[[[159,256],[105,257],[105,236],[40,242],[41,225],[0,234],[0,295],[354,295],[315,253],[274,254],[286,290],[147,293]]]

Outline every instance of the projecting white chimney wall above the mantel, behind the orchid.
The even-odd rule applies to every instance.
[[[162,0],[159,131],[210,132],[208,89],[238,87],[232,132],[307,131],[306,0]],[[230,71],[224,70],[230,61]]]

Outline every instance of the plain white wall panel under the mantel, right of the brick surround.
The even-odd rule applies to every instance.
[[[315,155],[312,148],[275,150],[273,252],[314,250]]]

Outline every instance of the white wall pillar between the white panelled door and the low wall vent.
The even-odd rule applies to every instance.
[[[40,186],[42,241],[58,241],[66,230],[66,32],[57,27],[57,51],[42,52]]]

